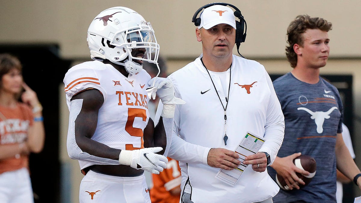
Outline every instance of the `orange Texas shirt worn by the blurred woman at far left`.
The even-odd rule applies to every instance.
[[[33,124],[31,109],[22,103],[18,103],[16,108],[0,106],[0,112],[5,116],[0,116],[0,145],[16,144],[25,142],[29,127]],[[0,174],[27,167],[29,157],[10,157],[0,160]]]

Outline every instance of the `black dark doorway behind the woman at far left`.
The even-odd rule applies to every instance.
[[[71,61],[59,57],[56,44],[0,44],[0,53],[17,56],[23,65],[25,83],[43,105],[44,150],[30,155],[30,177],[35,203],[59,202],[59,84]]]

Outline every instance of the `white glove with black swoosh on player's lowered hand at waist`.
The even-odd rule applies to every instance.
[[[140,150],[122,150],[119,154],[119,164],[130,165],[135,169],[143,169],[159,174],[167,167],[167,157],[155,154],[162,151],[162,147],[149,147]]]

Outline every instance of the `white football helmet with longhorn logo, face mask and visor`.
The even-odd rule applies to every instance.
[[[157,64],[160,48],[151,23],[126,7],[113,7],[100,12],[90,23],[87,43],[92,59],[108,59],[125,66],[130,74],[138,73],[143,61]],[[144,58],[139,53],[132,56],[132,49],[136,48],[145,49]]]

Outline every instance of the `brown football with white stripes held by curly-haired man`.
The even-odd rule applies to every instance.
[[[295,164],[297,168],[310,172],[309,176],[304,176],[300,173],[296,173],[297,176],[305,182],[305,185],[300,185],[300,188],[308,185],[308,183],[311,182],[312,178],[316,174],[316,160],[314,160],[314,158],[311,156],[301,155],[293,159],[293,164]],[[284,181],[283,177],[277,176],[277,174],[276,174],[276,182],[281,189],[290,190],[290,188],[286,184],[286,181]]]

